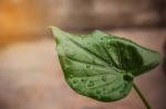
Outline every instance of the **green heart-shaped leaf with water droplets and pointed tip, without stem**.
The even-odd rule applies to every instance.
[[[76,92],[100,101],[124,98],[133,79],[156,67],[159,54],[101,31],[72,35],[51,28],[66,83]]]

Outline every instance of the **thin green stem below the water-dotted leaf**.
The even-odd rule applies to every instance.
[[[151,105],[148,103],[148,101],[146,100],[146,98],[144,97],[144,95],[139,90],[139,88],[136,86],[136,84],[133,84],[133,87],[136,90],[137,95],[141,97],[141,99],[143,101],[143,103],[145,105],[146,109],[152,109]]]

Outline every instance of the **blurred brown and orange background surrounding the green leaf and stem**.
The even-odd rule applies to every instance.
[[[135,83],[154,109],[166,108],[165,0],[0,0],[0,109],[145,109],[134,90],[98,102],[64,81],[46,26],[103,30],[158,51],[162,63]]]

